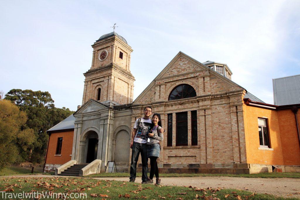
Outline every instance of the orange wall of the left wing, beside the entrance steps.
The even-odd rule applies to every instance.
[[[74,131],[51,133],[47,149],[46,164],[64,164],[71,160]],[[62,137],[61,156],[54,156],[57,139]]]

